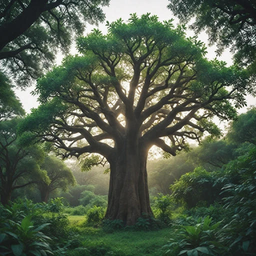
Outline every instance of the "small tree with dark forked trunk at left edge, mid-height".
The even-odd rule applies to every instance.
[[[46,171],[40,169],[44,152],[37,145],[24,148],[16,136],[18,118],[0,122],[0,200],[4,205],[14,189],[35,183],[49,182]]]

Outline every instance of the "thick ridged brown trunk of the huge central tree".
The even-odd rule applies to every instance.
[[[131,141],[130,141],[131,142]],[[110,161],[108,206],[105,218],[133,225],[142,212],[152,214],[147,186],[147,150],[127,142]],[[134,148],[136,147],[136,148]]]

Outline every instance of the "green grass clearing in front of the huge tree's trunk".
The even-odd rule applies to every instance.
[[[72,225],[79,225],[84,216],[68,216]],[[154,231],[115,231],[107,233],[101,227],[80,227],[79,240],[84,249],[69,251],[74,255],[113,255],[113,256],[161,256],[166,255],[161,247],[171,238],[173,229]],[[81,246],[82,246],[81,245]]]

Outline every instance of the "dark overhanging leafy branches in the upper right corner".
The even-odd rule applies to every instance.
[[[216,43],[217,54],[231,47],[242,64],[255,64],[256,3],[254,0],[169,0],[168,8],[196,33],[205,30],[209,45]]]

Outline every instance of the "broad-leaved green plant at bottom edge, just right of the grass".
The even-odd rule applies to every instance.
[[[178,255],[223,255],[224,247],[216,241],[216,228],[220,221],[210,225],[211,218],[206,216],[203,221],[198,218],[194,225],[182,225],[176,231],[176,239],[164,245],[166,253],[178,246]]]

